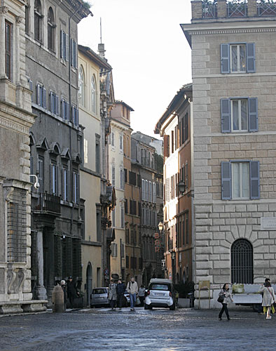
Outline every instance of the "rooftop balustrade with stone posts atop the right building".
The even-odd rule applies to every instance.
[[[192,0],[192,22],[217,18],[276,17],[276,0]]]

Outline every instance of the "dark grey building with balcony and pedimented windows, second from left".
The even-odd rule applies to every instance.
[[[50,300],[69,275],[81,288],[77,25],[90,15],[82,1],[31,0],[26,6],[26,74],[32,91],[32,289]]]

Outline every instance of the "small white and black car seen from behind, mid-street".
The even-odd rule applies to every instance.
[[[153,307],[169,307],[175,310],[175,293],[170,279],[151,279],[146,291],[145,310]]]

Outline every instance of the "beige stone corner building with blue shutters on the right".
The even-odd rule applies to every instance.
[[[274,281],[275,4],[192,1],[192,17],[181,27],[192,51],[195,282]]]

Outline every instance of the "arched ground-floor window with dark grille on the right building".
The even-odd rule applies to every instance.
[[[231,282],[253,283],[253,248],[247,239],[237,239],[231,246]]]

